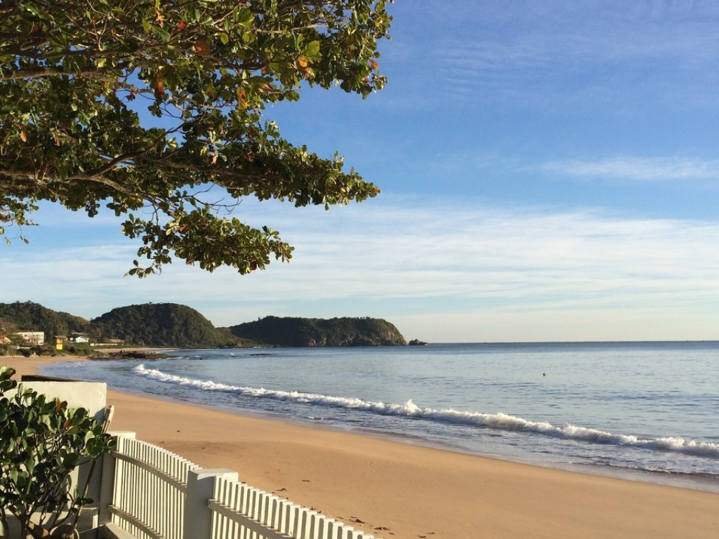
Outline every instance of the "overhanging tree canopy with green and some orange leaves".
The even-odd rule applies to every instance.
[[[172,254],[243,274],[289,259],[276,231],[223,210],[248,195],[329,206],[378,192],[262,114],[302,86],[382,88],[387,1],[3,1],[0,235],[15,225],[24,239],[38,201],[91,217],[105,205],[142,241],[147,267],[132,275]],[[209,186],[226,198],[206,200]]]

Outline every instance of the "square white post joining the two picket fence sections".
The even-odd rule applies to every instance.
[[[212,533],[212,511],[207,502],[214,495],[215,479],[238,481],[237,471],[229,469],[190,470],[187,476],[187,498],[183,539],[210,539]]]

